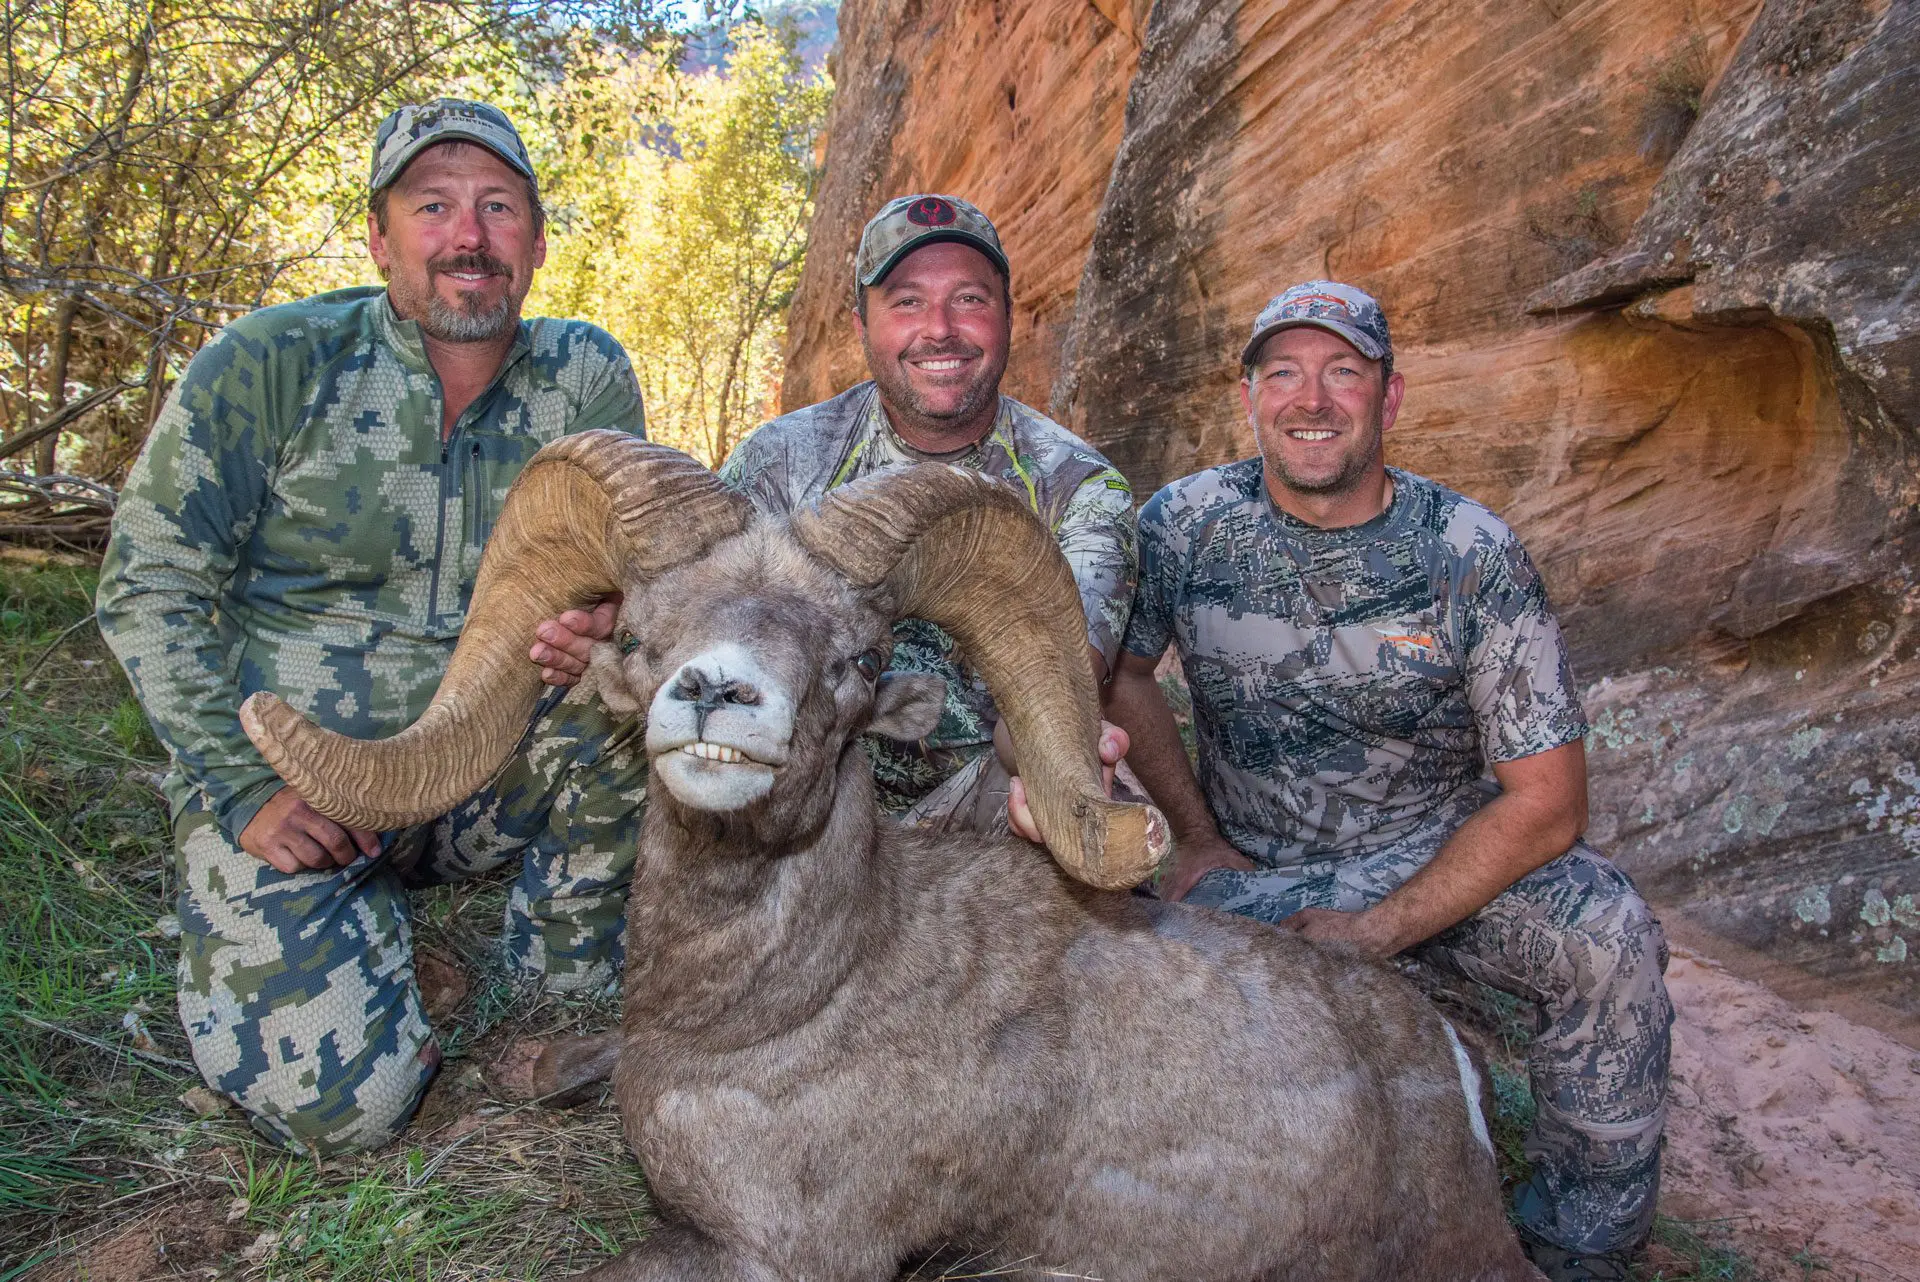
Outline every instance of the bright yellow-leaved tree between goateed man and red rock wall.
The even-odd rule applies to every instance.
[[[530,309],[626,345],[647,434],[718,464],[772,413],[829,86],[791,44],[737,27],[728,65],[655,54],[543,92],[547,265]]]

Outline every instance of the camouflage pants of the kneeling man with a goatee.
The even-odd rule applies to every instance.
[[[597,699],[549,697],[488,787],[334,871],[280,873],[190,804],[173,829],[180,1023],[207,1084],[300,1150],[390,1140],[440,1063],[407,890],[507,860],[520,862],[509,965],[553,988],[612,985],[645,800],[643,735]]]

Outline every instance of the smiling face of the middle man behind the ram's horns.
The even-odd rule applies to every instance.
[[[964,449],[1000,411],[1012,336],[1006,282],[973,246],[914,249],[854,313],[893,428],[925,453]]]

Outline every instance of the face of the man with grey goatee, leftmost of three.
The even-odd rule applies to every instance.
[[[524,177],[490,150],[442,142],[386,190],[386,226],[367,215],[367,249],[394,311],[444,344],[503,338],[520,320],[547,238]]]

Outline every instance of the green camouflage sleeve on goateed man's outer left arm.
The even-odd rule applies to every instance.
[[[236,839],[280,789],[240,729],[240,687],[219,599],[267,501],[276,445],[269,342],[221,332],[167,397],[113,516],[100,566],[100,631],[173,754]]]

